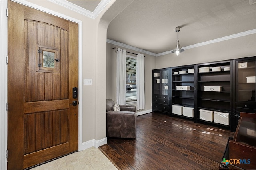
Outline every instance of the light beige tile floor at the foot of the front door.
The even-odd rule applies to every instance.
[[[64,156],[32,170],[117,170],[98,148],[88,148]]]

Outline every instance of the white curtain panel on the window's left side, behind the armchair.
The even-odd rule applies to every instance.
[[[126,50],[118,48],[116,67],[116,102],[119,105],[125,105],[126,91]]]

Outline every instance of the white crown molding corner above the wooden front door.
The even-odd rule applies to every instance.
[[[78,13],[80,13],[84,16],[87,16],[89,18],[95,19],[98,16],[98,14],[100,14],[100,12],[107,6],[107,4],[111,0],[101,0],[93,12],[86,10],[86,9],[84,9],[76,4],[73,4],[67,0],[48,0],[48,1],[54,2],[55,4],[58,4],[61,6],[64,6],[65,8],[68,8],[70,10],[78,12]]]

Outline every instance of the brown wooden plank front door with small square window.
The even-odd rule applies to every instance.
[[[78,150],[78,24],[11,1],[8,11],[12,170]]]

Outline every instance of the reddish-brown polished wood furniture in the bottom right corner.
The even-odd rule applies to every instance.
[[[256,168],[256,113],[240,113],[234,139],[229,141],[229,162],[230,169]]]

